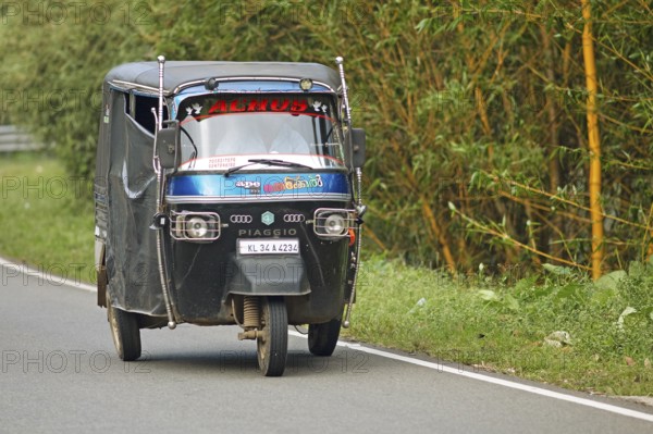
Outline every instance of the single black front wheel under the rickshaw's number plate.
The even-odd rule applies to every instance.
[[[288,314],[283,298],[263,298],[260,323],[257,337],[259,368],[266,376],[281,376],[288,352]]]

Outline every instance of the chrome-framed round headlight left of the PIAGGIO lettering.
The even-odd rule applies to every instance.
[[[215,212],[172,212],[170,236],[177,240],[210,243],[220,238],[222,224]]]

